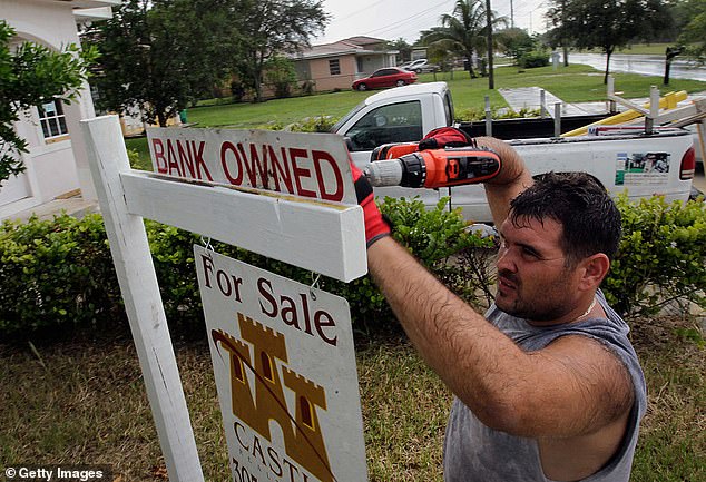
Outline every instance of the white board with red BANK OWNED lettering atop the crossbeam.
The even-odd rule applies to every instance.
[[[155,173],[355,205],[343,137],[232,129],[147,129]]]

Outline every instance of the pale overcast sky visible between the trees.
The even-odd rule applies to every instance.
[[[491,8],[510,22],[512,4],[514,26],[537,32],[545,30],[542,0],[491,0]],[[324,10],[331,14],[323,37],[312,43],[329,43],[354,36],[369,36],[385,40],[400,37],[412,43],[420,30],[439,26],[443,13],[451,13],[455,0],[324,0]]]

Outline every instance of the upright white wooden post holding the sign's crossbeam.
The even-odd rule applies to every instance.
[[[118,117],[82,120],[81,129],[169,479],[203,482],[145,226],[125,204],[120,173],[130,166]]]

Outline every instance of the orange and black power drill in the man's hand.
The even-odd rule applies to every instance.
[[[416,150],[416,144],[376,148],[363,174],[373,186],[438,187],[461,186],[492,179],[502,161],[490,149],[452,147]]]

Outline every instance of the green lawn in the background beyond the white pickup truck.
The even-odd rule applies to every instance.
[[[622,91],[626,98],[648,97],[653,85],[660,86],[661,78],[634,73],[615,73],[616,90]],[[449,83],[453,94],[457,114],[472,111],[482,116],[484,98],[489,96],[493,108],[507,107],[499,89],[518,87],[541,87],[568,102],[585,102],[606,99],[606,86],[602,72],[582,65],[569,67],[541,67],[519,71],[517,67],[499,67],[496,69],[496,89],[488,89],[488,79],[470,79],[464,71],[422,73],[421,82],[443,80]],[[663,92],[686,90],[688,92],[706,91],[706,82],[697,80],[673,79],[669,88]],[[274,128],[300,121],[308,117],[342,117],[370,92],[345,90],[340,92],[318,94],[314,96],[290,99],[274,99],[261,104],[215,104],[205,101],[203,107],[187,110],[189,122],[198,127],[229,127],[235,129]],[[126,140],[129,149],[138,153],[134,167],[151,170],[147,141],[144,137]]]

